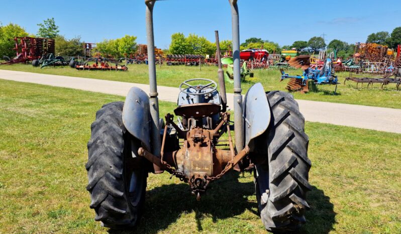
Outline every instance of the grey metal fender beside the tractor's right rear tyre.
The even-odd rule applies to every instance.
[[[244,99],[243,124],[245,145],[255,151],[254,140],[263,135],[271,119],[270,105],[261,83],[256,83],[248,90]],[[265,136],[265,135],[263,135]]]

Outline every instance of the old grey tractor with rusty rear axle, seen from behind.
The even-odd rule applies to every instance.
[[[133,87],[125,102],[104,105],[96,112],[87,145],[86,189],[95,220],[104,226],[126,229],[138,223],[148,173],[171,173],[188,183],[200,200],[208,185],[231,169],[253,170],[258,209],[267,230],[295,231],[306,222],[306,193],[312,187],[308,182],[311,161],[304,117],[292,95],[265,92],[260,83],[253,85],[243,99],[238,6],[237,0],[229,2],[234,47],[234,124],[227,111],[221,64],[220,92],[213,80],[186,80],[179,86],[178,106],[173,110],[177,117],[167,114],[165,121],[159,118],[153,50],[156,1],[145,1],[149,96]],[[216,38],[219,48],[218,35]],[[219,147],[222,142],[227,149]]]

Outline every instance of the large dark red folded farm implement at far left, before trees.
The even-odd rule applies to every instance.
[[[40,59],[43,55],[54,54],[54,40],[47,38],[16,37],[14,38],[17,56],[1,64],[24,63]]]

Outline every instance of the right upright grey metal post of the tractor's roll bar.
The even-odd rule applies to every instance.
[[[235,148],[237,152],[240,152],[244,149],[240,66],[240,23],[237,0],[229,0],[229,2],[231,5],[233,26]]]

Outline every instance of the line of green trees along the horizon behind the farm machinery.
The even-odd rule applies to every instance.
[[[43,23],[37,24],[39,30],[36,35],[29,34],[24,28],[17,24],[8,24],[3,26],[0,22],[0,55],[9,57],[15,56],[14,37],[43,37],[55,39],[56,54],[64,56],[82,56],[82,41],[79,36],[67,39],[59,34],[59,27],[55,24],[54,18],[46,19]],[[126,35],[119,39],[108,40],[97,43],[95,52],[102,56],[111,56],[122,58],[132,55],[137,50],[137,37]],[[367,37],[366,43],[377,43],[386,45],[389,48],[395,48],[401,44],[401,27],[395,28],[391,34],[388,32],[372,33]],[[220,42],[222,51],[232,50],[232,41],[223,40]],[[282,50],[295,48],[300,53],[315,53],[320,50],[336,51],[338,57],[349,57],[354,53],[355,45],[335,39],[326,45],[322,37],[312,37],[309,41],[295,41],[292,45],[280,47],[277,43],[261,38],[252,37],[246,39],[241,44],[240,49],[266,49],[269,53],[280,53]],[[216,44],[209,41],[206,37],[196,34],[185,36],[183,33],[174,33],[171,35],[171,43],[165,53],[170,54],[197,54],[214,55],[216,53]]]

